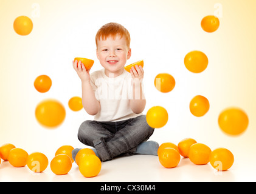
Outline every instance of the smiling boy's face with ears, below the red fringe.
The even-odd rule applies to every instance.
[[[112,36],[104,41],[99,39],[96,52],[107,76],[112,76],[109,73],[114,74],[114,77],[119,76],[127,59],[131,57],[131,49],[127,47],[125,38],[120,38],[119,35],[115,39]]]

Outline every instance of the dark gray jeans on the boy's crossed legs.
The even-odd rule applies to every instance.
[[[85,121],[78,130],[78,139],[95,147],[102,161],[116,156],[134,155],[137,146],[153,134],[145,115],[117,122]]]

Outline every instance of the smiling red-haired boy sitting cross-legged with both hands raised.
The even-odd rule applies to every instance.
[[[95,41],[97,58],[104,69],[90,75],[81,61],[73,61],[81,79],[83,107],[94,115],[94,121],[80,125],[78,139],[94,147],[102,161],[134,154],[157,155],[157,142],[146,142],[154,129],[142,115],[146,104],[144,70],[137,65],[130,73],[124,69],[131,57],[130,33],[120,24],[109,23],[100,28]],[[79,150],[73,150],[74,159]]]

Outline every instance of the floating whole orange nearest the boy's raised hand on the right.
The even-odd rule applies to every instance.
[[[175,88],[175,78],[168,73],[159,73],[154,78],[154,86],[159,92],[171,92]]]

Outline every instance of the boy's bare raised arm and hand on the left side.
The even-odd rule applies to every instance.
[[[77,75],[81,79],[82,104],[83,108],[89,115],[96,115],[100,110],[100,102],[95,98],[94,90],[92,90],[90,82],[90,70],[85,69],[85,65],[81,61],[73,61],[73,67]]]

